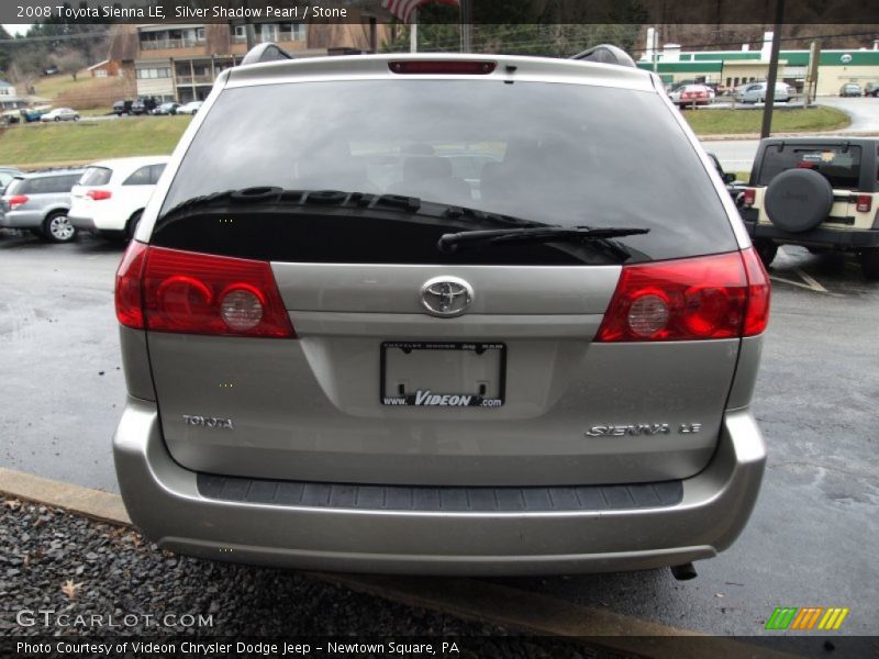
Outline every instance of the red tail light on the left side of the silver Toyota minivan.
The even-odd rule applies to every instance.
[[[151,332],[294,338],[266,261],[132,242],[116,273],[116,317]]]

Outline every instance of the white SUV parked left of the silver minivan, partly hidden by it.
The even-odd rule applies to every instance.
[[[146,156],[89,165],[70,192],[70,224],[105,238],[131,238],[167,161]]]

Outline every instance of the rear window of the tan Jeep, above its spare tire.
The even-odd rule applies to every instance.
[[[860,182],[860,147],[844,145],[769,145],[764,152],[760,186],[788,169],[814,169],[834,188],[857,189]]]

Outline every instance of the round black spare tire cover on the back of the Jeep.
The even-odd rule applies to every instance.
[[[817,171],[789,169],[767,186],[764,205],[778,228],[802,233],[826,220],[833,205],[833,188]]]

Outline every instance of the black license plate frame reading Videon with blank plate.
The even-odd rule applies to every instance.
[[[501,343],[381,344],[382,405],[500,407],[505,381],[507,346]]]

